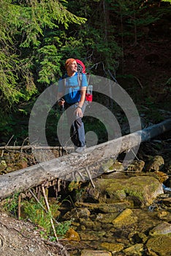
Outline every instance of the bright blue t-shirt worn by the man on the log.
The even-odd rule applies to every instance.
[[[79,86],[77,72],[75,72],[74,76],[65,75],[58,81],[58,92],[63,92],[65,101],[72,104],[80,101],[80,89],[83,86],[88,86],[86,74],[81,74]]]

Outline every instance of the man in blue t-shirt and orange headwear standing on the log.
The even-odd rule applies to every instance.
[[[83,113],[86,109],[86,88],[88,86],[86,75],[77,72],[75,59],[65,62],[66,75],[58,81],[58,105],[64,106],[68,123],[71,124],[71,139],[75,145],[75,152],[83,153],[86,148],[86,138]]]

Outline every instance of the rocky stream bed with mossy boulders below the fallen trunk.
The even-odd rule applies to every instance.
[[[69,185],[74,203],[62,208],[60,219],[73,219],[66,233],[71,256],[171,255],[171,149],[159,143],[143,143],[137,156],[144,161],[135,160],[127,172],[121,163],[112,170],[110,162],[95,189]]]

